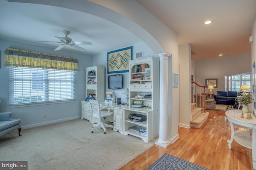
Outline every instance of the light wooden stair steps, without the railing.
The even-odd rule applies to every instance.
[[[190,126],[200,128],[207,120],[209,113],[202,112],[202,108],[196,107],[196,103],[191,103],[191,119]]]

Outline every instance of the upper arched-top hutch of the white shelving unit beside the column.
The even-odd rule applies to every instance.
[[[142,101],[152,110],[159,109],[159,59],[146,57],[129,61],[130,68],[130,102]]]

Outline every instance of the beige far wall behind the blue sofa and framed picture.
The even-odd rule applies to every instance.
[[[195,60],[194,63],[196,68],[194,81],[201,86],[205,86],[206,78],[218,78],[218,87],[212,90],[214,93],[217,90],[226,91],[225,76],[252,71],[251,54]]]

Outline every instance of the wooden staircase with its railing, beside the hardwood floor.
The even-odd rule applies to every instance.
[[[203,96],[205,96],[205,86],[200,86],[193,80],[192,80],[192,83],[196,87],[194,94],[203,94]],[[204,122],[207,120],[209,113],[205,111],[205,98],[202,104],[199,103],[197,105],[199,107],[196,107],[196,102],[201,102],[201,101],[195,101],[193,96],[193,102],[191,103],[190,126],[193,128],[200,128],[204,124]]]

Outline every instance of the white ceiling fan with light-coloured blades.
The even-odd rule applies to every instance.
[[[92,45],[92,43],[88,42],[88,41],[72,41],[72,39],[70,37],[68,37],[68,34],[70,34],[70,31],[62,31],[62,33],[64,33],[64,35],[66,35],[66,37],[54,36],[54,37],[60,39],[60,41],[36,41],[36,42],[62,43],[54,51],[62,49],[65,45],[70,45],[71,47],[78,49],[80,51],[86,51],[86,49],[79,47],[77,44]]]

